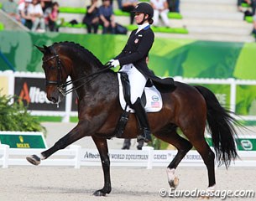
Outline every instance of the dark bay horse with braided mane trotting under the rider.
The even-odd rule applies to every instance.
[[[112,137],[119,116],[123,110],[118,101],[118,76],[87,49],[72,42],[55,43],[50,47],[37,47],[43,54],[43,69],[46,79],[46,92],[49,101],[58,103],[63,88],[73,84],[79,97],[79,122],[65,137],[40,156],[30,156],[27,160],[38,165],[40,160],[50,157],[60,149],[82,137],[92,137],[102,160],[104,186],[94,192],[102,196],[111,192],[110,161],[107,137]],[[71,76],[71,82],[66,82]],[[163,108],[149,113],[149,125],[155,137],[174,145],[178,152],[167,168],[170,187],[177,185],[175,169],[185,154],[195,147],[200,153],[208,172],[208,188],[215,186],[215,155],[219,164],[226,167],[238,157],[234,141],[234,119],[217,101],[211,90],[202,86],[191,86],[175,82],[176,89],[162,93]],[[212,133],[212,143],[216,154],[206,143],[206,127]],[[180,137],[177,128],[185,135]],[[136,138],[138,135],[136,118],[130,114],[123,138]],[[192,171],[192,170],[191,170]]]

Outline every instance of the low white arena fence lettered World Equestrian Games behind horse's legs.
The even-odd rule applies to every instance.
[[[39,155],[44,149],[17,149],[8,145],[0,145],[0,166],[32,166],[25,157]],[[175,150],[154,150],[153,147],[143,147],[143,150],[109,150],[112,167],[154,168],[167,167],[175,157]],[[256,167],[256,152],[238,151],[239,159],[231,163],[231,167]],[[97,149],[84,149],[80,146],[70,147],[55,152],[43,160],[40,166],[57,166],[81,168],[102,166]],[[204,167],[201,156],[196,151],[190,151],[180,162],[180,167]]]

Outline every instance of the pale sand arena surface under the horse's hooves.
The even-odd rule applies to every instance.
[[[217,168],[217,190],[251,189],[256,193],[255,168]],[[178,168],[180,185],[177,190],[205,190],[206,168]],[[102,168],[10,167],[1,169],[1,201],[158,201],[199,200],[199,198],[162,198],[159,189],[169,189],[165,168],[111,168],[112,192],[106,197],[92,193],[102,188]],[[210,200],[221,200],[211,198]],[[255,200],[255,198],[227,198]]]

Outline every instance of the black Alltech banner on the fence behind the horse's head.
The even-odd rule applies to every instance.
[[[60,102],[57,108],[46,98],[45,80],[43,78],[15,78],[15,95],[18,95],[19,101],[23,101],[29,110],[33,111],[65,111],[65,100]]]

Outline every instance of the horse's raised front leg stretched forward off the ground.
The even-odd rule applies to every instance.
[[[80,122],[68,134],[66,134],[65,137],[62,137],[58,142],[55,142],[55,145],[53,147],[50,147],[50,149],[44,152],[41,152],[40,156],[32,155],[26,157],[26,159],[34,165],[39,165],[41,160],[50,157],[53,153],[57,152],[58,150],[64,149],[65,147],[71,145],[71,143],[76,142],[82,137],[88,135],[90,136],[90,133],[87,131],[85,124]]]

